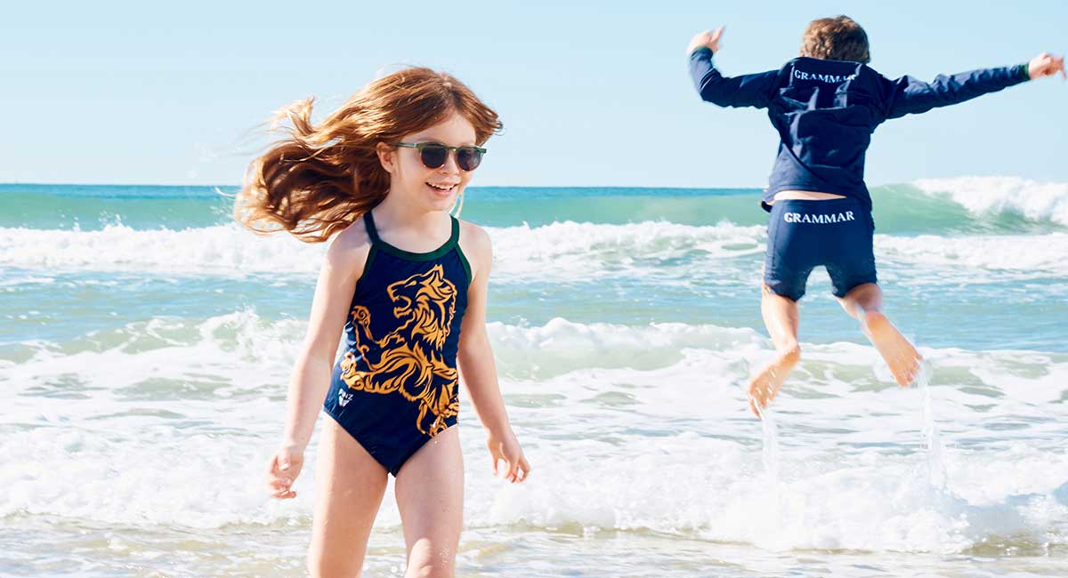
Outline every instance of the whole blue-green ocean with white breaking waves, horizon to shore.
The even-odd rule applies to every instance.
[[[0,184],[0,575],[302,575],[314,468],[287,501],[263,471],[326,245],[241,229],[220,190]],[[897,387],[817,270],[763,423],[758,198],[468,191],[533,472],[492,478],[462,399],[458,575],[1068,575],[1068,183],[874,188],[926,378]],[[404,551],[390,489],[364,576]]]

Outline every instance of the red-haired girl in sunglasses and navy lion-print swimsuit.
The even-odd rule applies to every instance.
[[[331,419],[316,466],[312,575],[360,574],[392,473],[406,576],[452,576],[464,505],[457,359],[494,475],[502,460],[512,482],[531,469],[486,336],[489,237],[450,214],[501,123],[458,80],[427,68],[372,82],[319,125],[311,108],[309,99],[280,114],[289,138],[253,161],[235,206],[254,230],[333,239],[267,485],[276,498],[296,496],[323,404]]]

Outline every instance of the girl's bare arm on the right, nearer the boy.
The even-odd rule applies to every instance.
[[[471,397],[471,404],[486,428],[486,444],[493,460],[493,475],[497,475],[498,462],[504,460],[508,468],[505,479],[521,482],[527,479],[531,466],[508,423],[508,413],[504,408],[504,399],[497,382],[493,350],[486,334],[486,293],[493,250],[486,231],[469,223],[465,223],[465,227],[469,239],[465,246],[471,260],[472,279],[460,326],[457,352],[460,372]]]

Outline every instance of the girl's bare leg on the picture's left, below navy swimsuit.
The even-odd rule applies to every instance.
[[[336,421],[324,422],[308,569],[317,578],[358,577],[388,473]]]

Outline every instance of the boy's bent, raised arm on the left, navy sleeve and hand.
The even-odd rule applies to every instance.
[[[702,100],[721,107],[767,107],[775,87],[779,70],[726,78],[712,64],[719,51],[723,28],[698,33],[690,41],[690,75]]]

